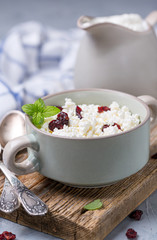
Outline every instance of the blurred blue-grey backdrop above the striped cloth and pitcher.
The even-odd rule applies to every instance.
[[[20,22],[35,20],[57,29],[76,27],[81,15],[109,16],[157,10],[157,0],[0,0],[0,37]]]

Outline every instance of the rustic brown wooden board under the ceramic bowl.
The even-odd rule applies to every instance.
[[[157,127],[151,132],[151,151],[157,152]],[[21,206],[12,214],[0,212],[0,217],[62,239],[101,240],[157,189],[157,159],[150,158],[138,173],[102,188],[73,188],[38,173],[19,179],[48,205],[49,211],[45,216],[32,217]],[[0,191],[3,183],[1,174]],[[83,213],[83,206],[98,198],[103,208]]]

